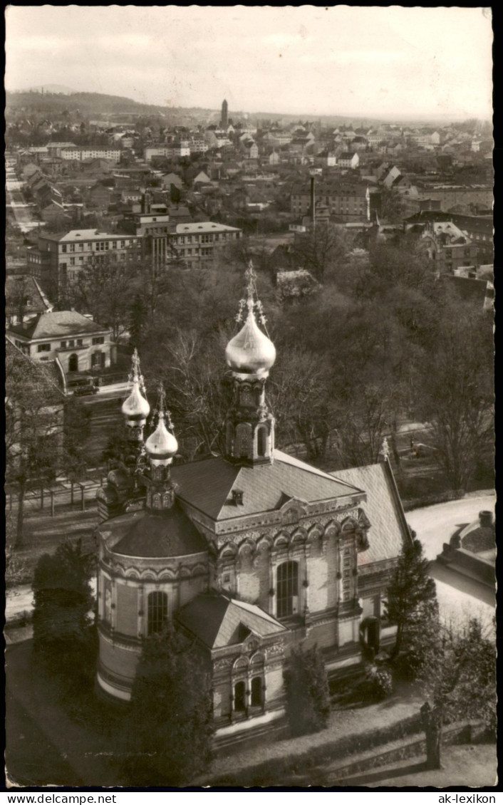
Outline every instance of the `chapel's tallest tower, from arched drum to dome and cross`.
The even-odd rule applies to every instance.
[[[233,374],[233,404],[225,423],[225,453],[241,465],[271,464],[274,453],[274,416],[266,404],[266,378],[276,359],[274,344],[259,328],[266,318],[257,299],[254,266],[245,273],[246,298],[241,299],[237,321],[241,330],[225,349]]]

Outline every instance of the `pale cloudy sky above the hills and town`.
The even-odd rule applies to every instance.
[[[152,104],[490,118],[478,6],[7,6],[6,89],[58,84]]]

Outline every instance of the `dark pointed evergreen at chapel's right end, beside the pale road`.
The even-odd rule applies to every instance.
[[[398,566],[388,588],[386,617],[397,625],[392,651],[395,668],[416,676],[426,650],[439,648],[439,605],[435,581],[428,576],[423,545],[412,539],[402,548]]]

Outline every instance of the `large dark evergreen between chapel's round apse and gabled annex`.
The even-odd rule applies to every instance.
[[[186,785],[211,757],[212,692],[199,652],[168,624],[146,638],[130,711],[136,785]]]

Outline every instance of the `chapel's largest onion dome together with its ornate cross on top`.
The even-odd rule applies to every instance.
[[[255,272],[252,263],[246,270],[246,299],[241,299],[237,321],[241,321],[242,313],[248,308],[245,324],[225,348],[225,361],[237,374],[269,374],[269,369],[276,360],[276,349],[270,338],[259,328],[255,318],[255,310],[262,324],[266,319],[262,313],[262,304],[256,299]]]

